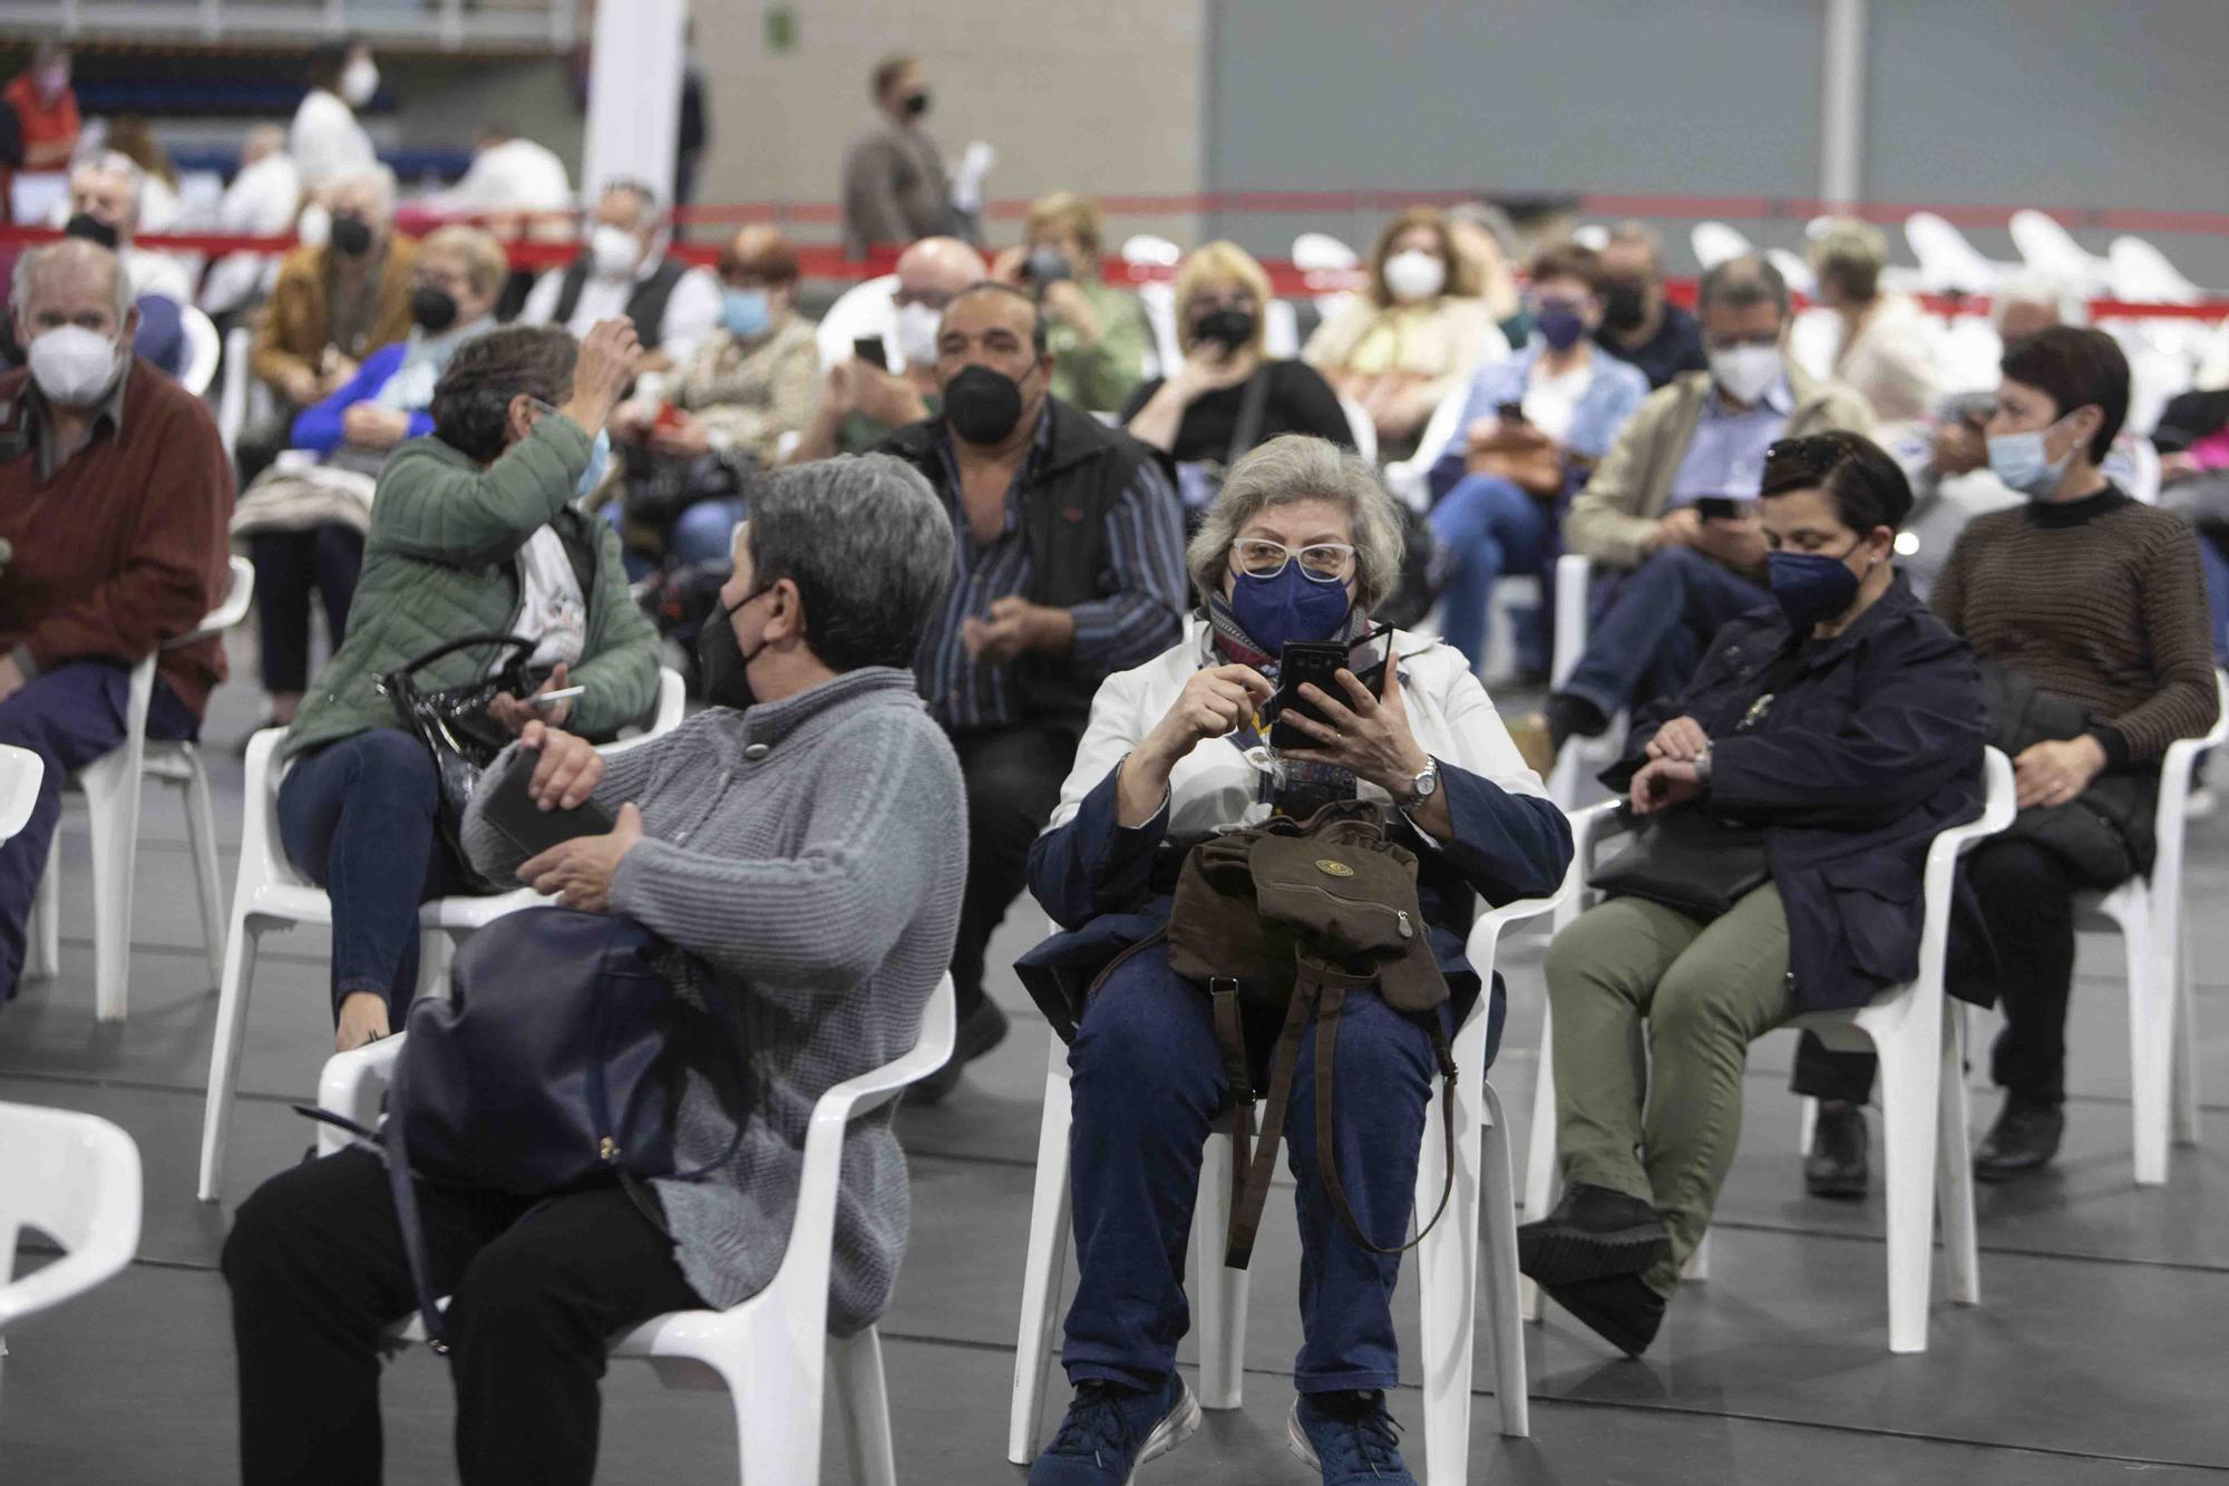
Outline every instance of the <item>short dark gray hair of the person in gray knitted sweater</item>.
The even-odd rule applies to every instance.
[[[914,663],[921,631],[952,582],[952,518],[912,464],[838,455],[751,484],[751,580],[789,578],[805,600],[805,643],[823,665]]]

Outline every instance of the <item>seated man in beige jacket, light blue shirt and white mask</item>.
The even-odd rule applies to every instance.
[[[1698,297],[1710,370],[1652,393],[1563,524],[1565,544],[1623,580],[1596,600],[1587,649],[1518,743],[1554,761],[1627,705],[1672,696],[1719,625],[1765,602],[1765,535],[1750,506],[1765,448],[1823,428],[1866,433],[1866,399],[1788,359],[1788,283],[1761,257],[1719,263]],[[1705,518],[1698,502],[1732,502]]]

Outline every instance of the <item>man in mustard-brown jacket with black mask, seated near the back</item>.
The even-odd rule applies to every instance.
[[[285,257],[256,321],[250,366],[279,413],[241,431],[243,482],[292,446],[290,428],[303,408],[341,390],[363,357],[410,335],[417,243],[395,232],[395,172],[354,170],[332,183],[328,199],[328,241]]]

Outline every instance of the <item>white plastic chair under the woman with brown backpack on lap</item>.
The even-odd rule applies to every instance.
[[[1493,984],[1493,953],[1500,935],[1545,913],[1558,897],[1522,899],[1478,917],[1467,955],[1485,986]],[[1068,1183],[1068,1044],[1050,1040],[1045,1058],[1045,1113],[1036,1131],[1036,1185],[1030,1198],[1030,1254],[1021,1278],[1021,1339],[1014,1348],[1014,1399],[1008,1412],[1005,1457],[1025,1466],[1043,1437],[1050,1397],[1054,1339],[1061,1325],[1061,1287],[1072,1232]],[[1500,1401],[1502,1435],[1531,1432],[1525,1392],[1525,1332],[1518,1314],[1516,1203],[1509,1167],[1509,1127],[1500,1098],[1478,1075],[1487,1051],[1487,993],[1456,1029],[1456,1185],[1440,1223],[1415,1249],[1422,1299],[1424,1372],[1424,1482],[1456,1486],[1469,1479],[1471,1446],[1471,1357],[1485,1245],[1487,1310],[1493,1337],[1493,1392]],[[1415,1216],[1440,1200],[1447,1180],[1440,1142],[1440,1098],[1435,1087],[1424,1109],[1424,1145],[1415,1169]],[[1224,1236],[1230,1227],[1233,1138],[1208,1136],[1199,1167],[1199,1203],[1193,1209],[1195,1310],[1199,1334],[1199,1406],[1239,1408],[1246,1374],[1246,1270],[1224,1267]]]

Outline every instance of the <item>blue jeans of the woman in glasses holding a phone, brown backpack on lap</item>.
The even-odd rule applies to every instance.
[[[1440,1017],[1453,1035],[1449,1009]],[[1362,1232],[1393,1247],[1406,1238],[1415,1205],[1435,1075],[1431,1038],[1373,991],[1346,997],[1337,1035],[1340,1183]],[[1268,1038],[1250,1033],[1255,1046]],[[1184,1249],[1201,1149],[1228,1100],[1208,997],[1168,968],[1166,946],[1132,955],[1083,1013],[1068,1067],[1077,1299],[1061,1361],[1072,1383],[1157,1388],[1190,1330]],[[1302,1254],[1304,1341],[1293,1383],[1300,1392],[1391,1388],[1400,1379],[1391,1305],[1400,1258],[1357,1245],[1331,1205],[1315,1149],[1313,1031],[1293,1073],[1286,1160]]]

